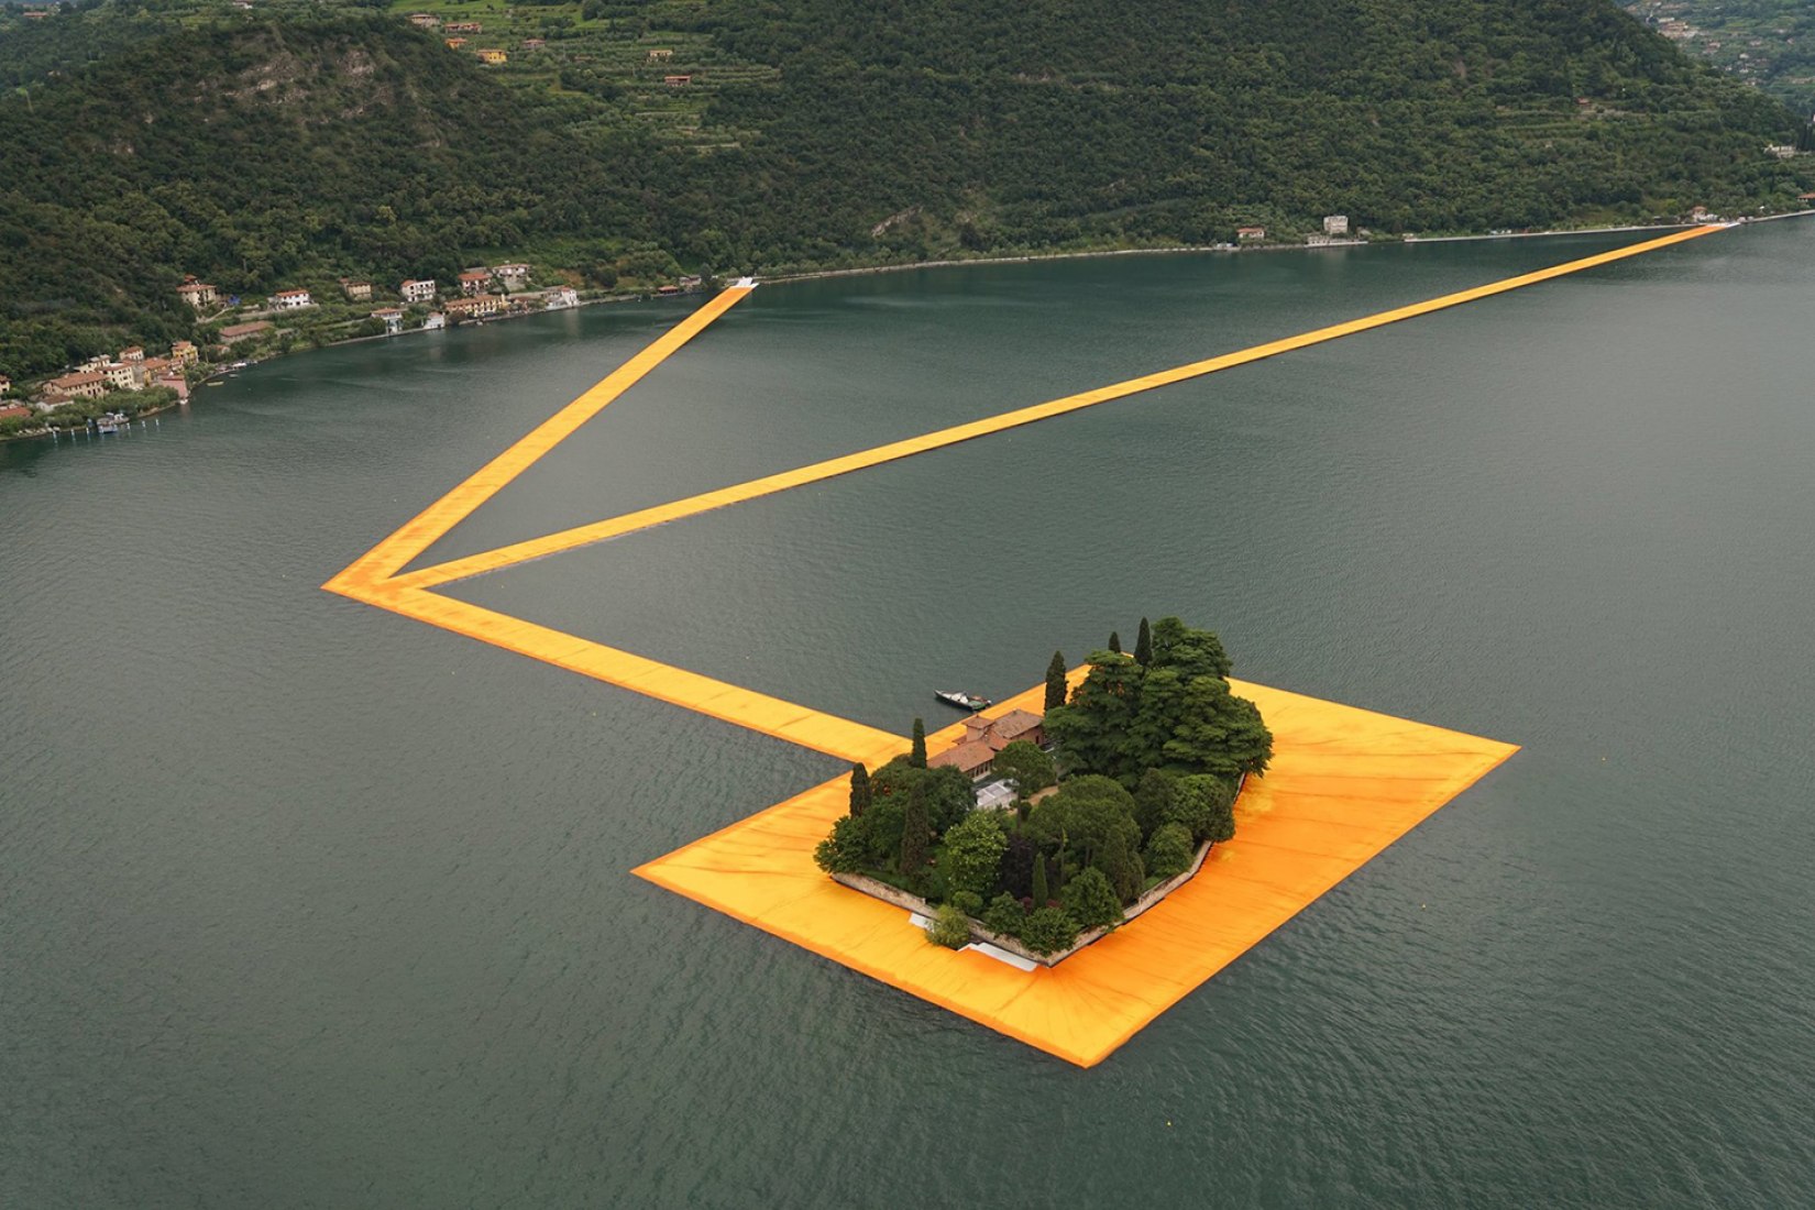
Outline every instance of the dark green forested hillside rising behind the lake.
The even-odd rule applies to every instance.
[[[412,5],[0,9],[0,372],[189,334],[185,272],[263,294],[525,258],[610,281],[1810,187],[1762,151],[1788,111],[1608,0],[432,4],[510,63]]]

